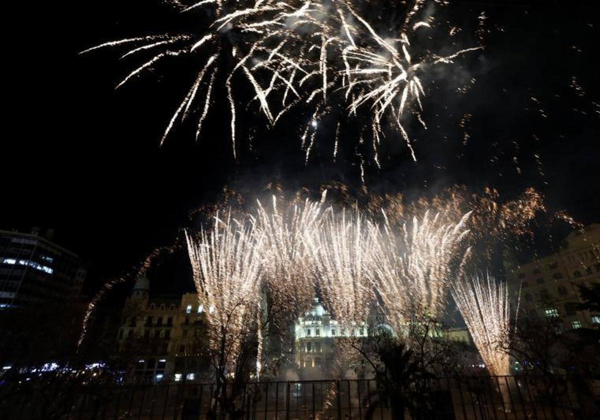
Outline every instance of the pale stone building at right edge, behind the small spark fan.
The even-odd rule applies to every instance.
[[[505,262],[509,288],[521,290],[520,313],[557,317],[566,329],[600,326],[600,314],[577,311],[577,286],[600,281],[600,224],[571,232],[554,254],[519,265]]]

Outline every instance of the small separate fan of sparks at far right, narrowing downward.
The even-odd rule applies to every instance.
[[[452,297],[490,375],[508,375],[509,356],[502,350],[510,329],[506,284],[479,273],[452,283]]]

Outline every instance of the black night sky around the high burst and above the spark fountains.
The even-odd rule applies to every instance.
[[[455,1],[444,8],[442,18],[470,34],[485,12],[485,50],[431,71],[428,130],[413,131],[418,164],[405,148],[391,147],[383,170],[367,164],[368,186],[417,196],[455,183],[473,190],[491,185],[507,197],[534,186],[550,209],[565,208],[583,223],[600,221],[599,10],[595,2],[573,3]],[[317,139],[305,168],[290,125],[259,129],[254,151],[234,163],[223,92],[215,94],[201,144],[184,126],[160,148],[189,71],[161,67],[115,91],[136,62],[119,61],[117,52],[77,55],[106,40],[172,30],[179,21],[159,1],[11,7],[29,10],[10,14],[28,19],[4,56],[0,229],[53,227],[56,242],[110,276],[171,241],[188,212],[224,184],[359,185],[356,161],[334,165],[326,155],[331,139]],[[460,39],[458,47],[477,41]],[[456,92],[472,77],[466,94]],[[463,145],[459,122],[466,114],[472,118]],[[247,113],[241,124],[256,118]],[[185,277],[185,270],[173,275]]]

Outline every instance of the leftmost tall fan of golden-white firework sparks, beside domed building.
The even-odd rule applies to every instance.
[[[208,308],[210,348],[223,358],[220,369],[236,368],[241,343],[260,316],[262,237],[253,221],[230,213],[223,220],[217,215],[211,230],[186,236],[199,302]]]

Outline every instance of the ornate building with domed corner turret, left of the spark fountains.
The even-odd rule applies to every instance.
[[[151,296],[150,281],[136,281],[122,312],[117,345],[125,380],[194,380],[206,371],[204,308],[195,293]]]

